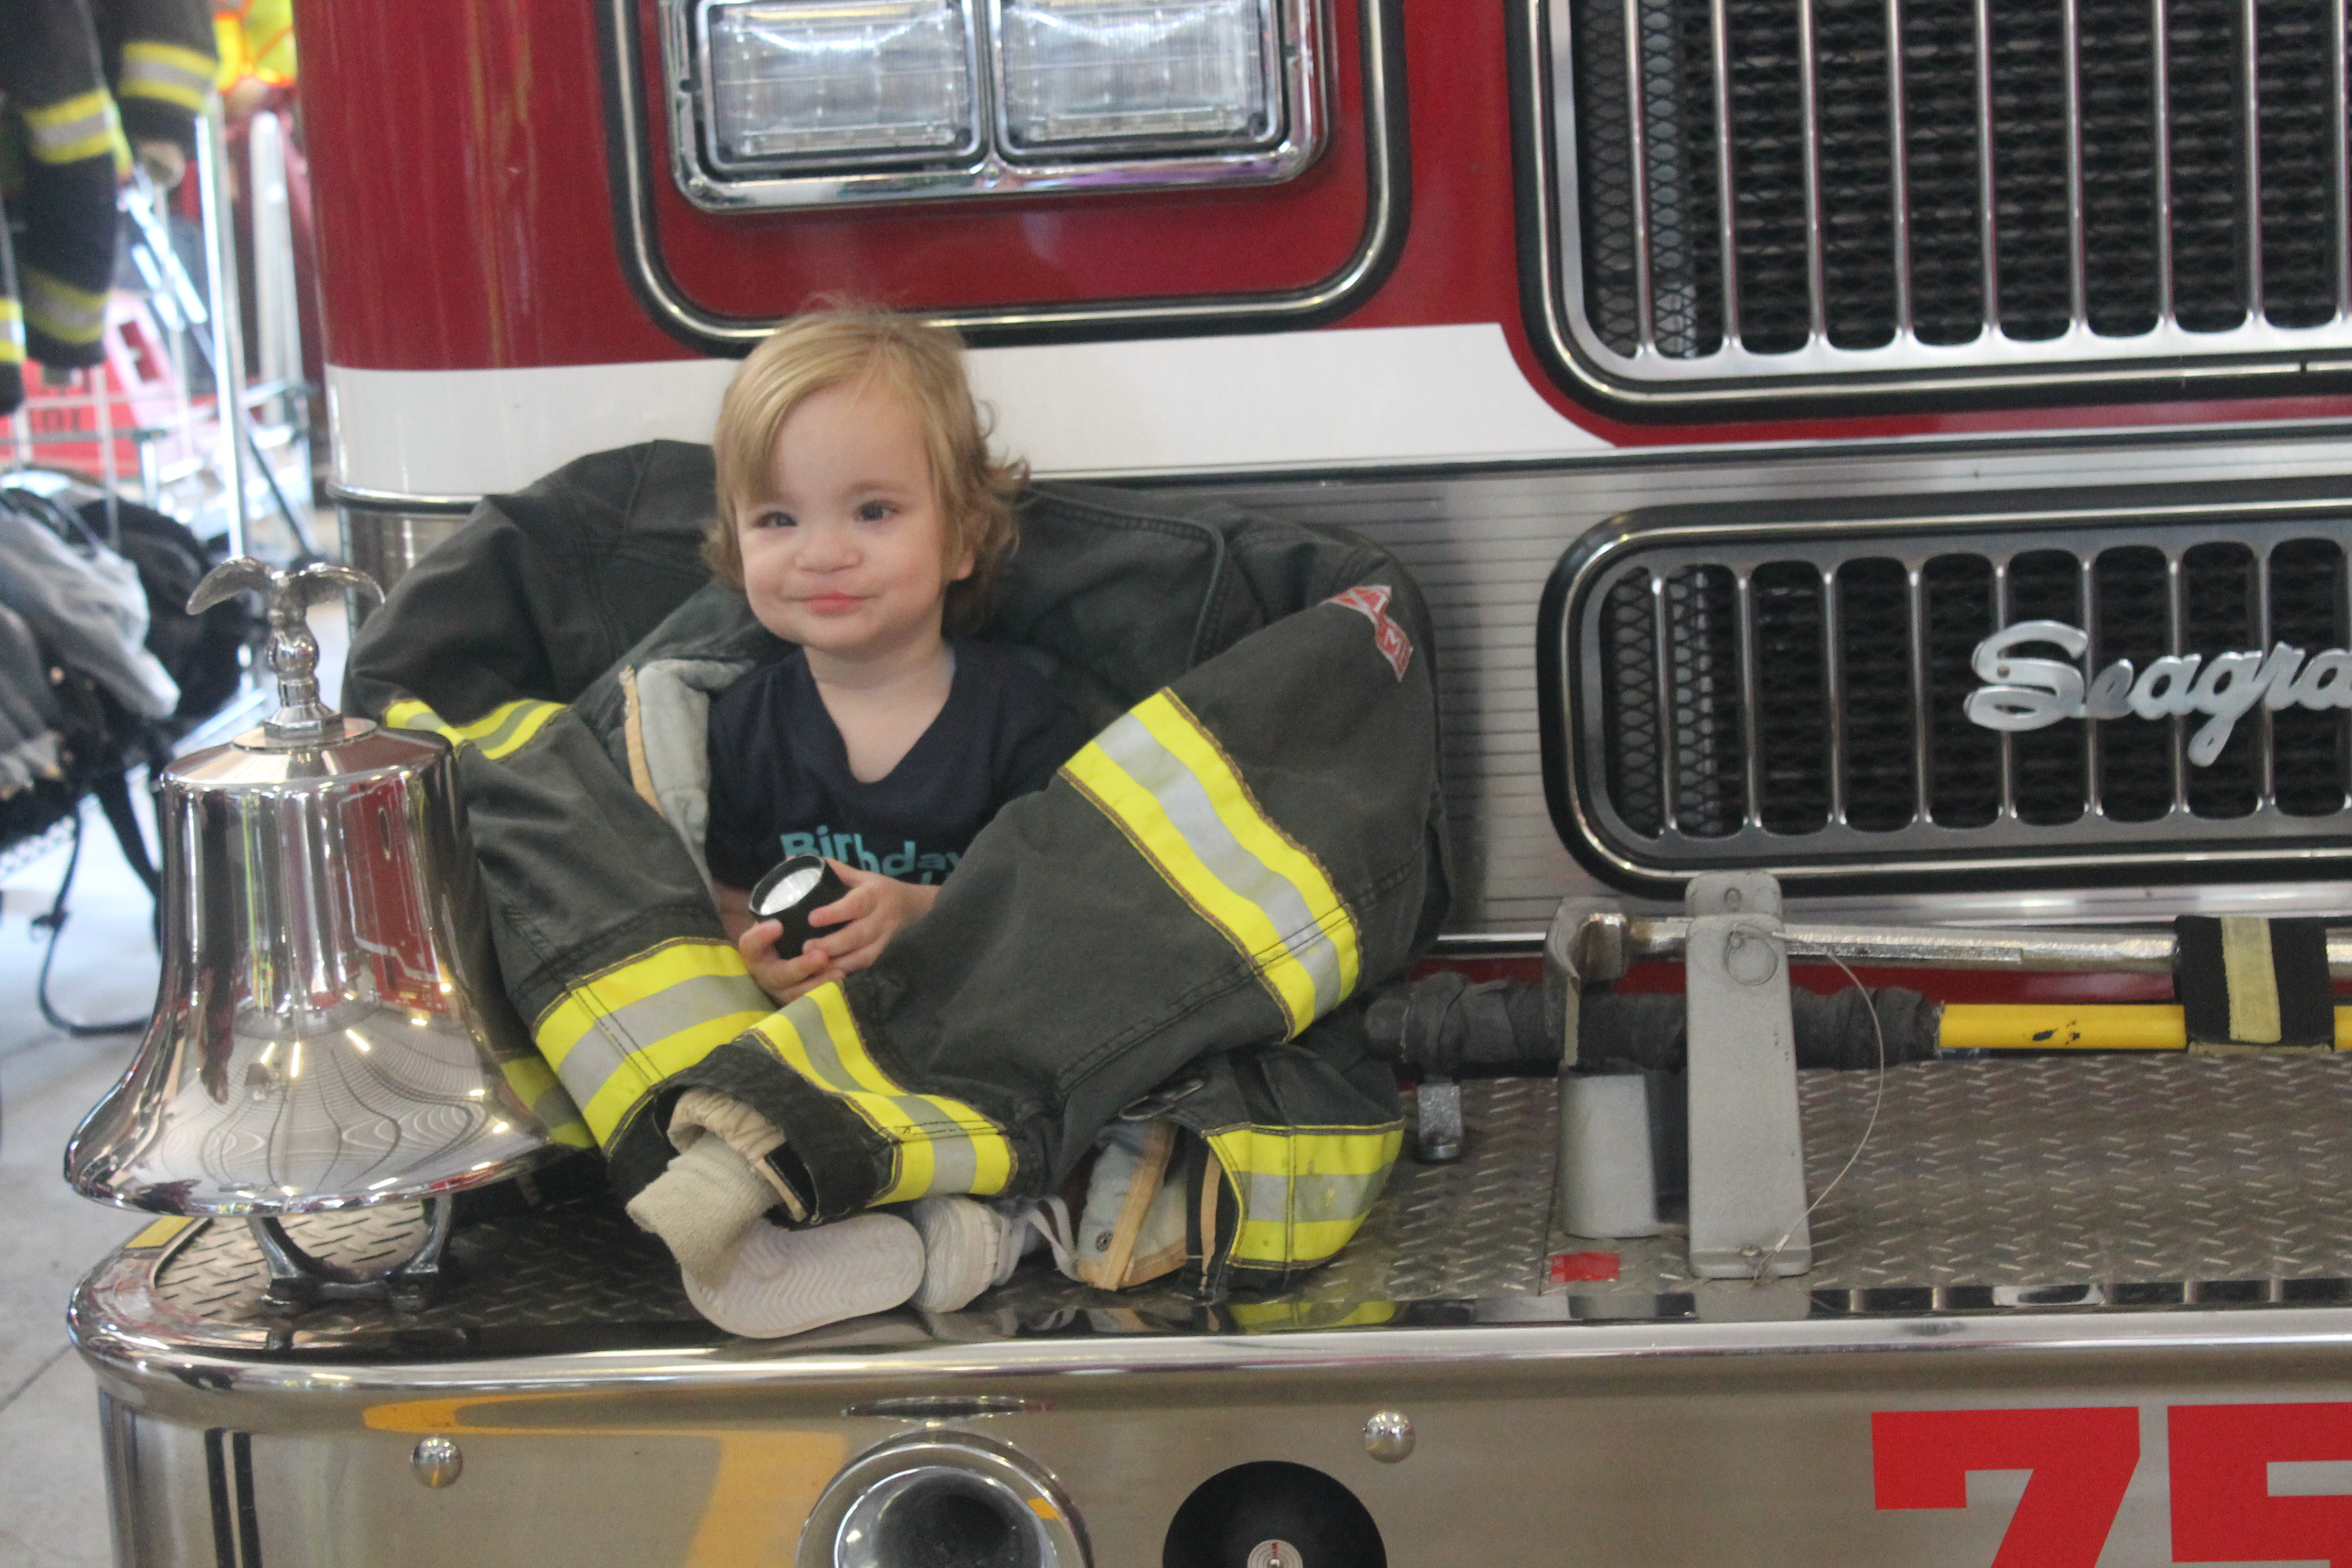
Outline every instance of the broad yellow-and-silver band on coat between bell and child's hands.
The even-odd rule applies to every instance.
[[[644,1095],[767,1016],[731,943],[677,938],[574,985],[532,1025],[600,1145]]]

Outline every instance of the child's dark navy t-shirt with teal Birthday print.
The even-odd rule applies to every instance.
[[[1087,743],[1051,684],[997,644],[950,642],[948,703],[889,776],[861,783],[800,649],[710,703],[710,877],[748,889],[786,856],[946,882],[1004,806]]]

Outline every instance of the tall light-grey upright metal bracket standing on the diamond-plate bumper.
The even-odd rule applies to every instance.
[[[1764,1279],[1813,1267],[1797,1124],[1780,884],[1708,872],[1684,893],[1691,1088],[1691,1272]]]

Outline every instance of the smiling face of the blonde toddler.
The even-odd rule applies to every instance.
[[[969,552],[948,559],[922,423],[887,386],[828,386],[793,409],[736,541],[760,625],[840,663],[924,654],[948,583],[971,576]]]

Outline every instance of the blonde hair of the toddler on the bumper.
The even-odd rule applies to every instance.
[[[720,515],[703,541],[703,559],[722,583],[743,585],[736,529],[743,508],[767,489],[776,435],[807,397],[844,383],[898,393],[922,425],[948,559],[971,552],[971,576],[948,583],[948,621],[955,630],[971,630],[1021,536],[1011,503],[1028,484],[1028,463],[990,458],[988,421],[964,378],[964,341],[913,315],[861,306],[811,310],[750,350],[720,402],[713,435]]]

